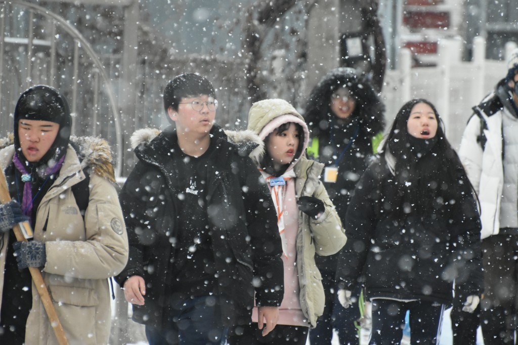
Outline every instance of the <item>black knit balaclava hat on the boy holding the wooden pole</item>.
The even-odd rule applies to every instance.
[[[49,151],[41,158],[42,164],[57,162],[66,152],[70,138],[72,117],[65,97],[47,85],[36,85],[25,90],[15,108],[14,136],[16,153],[20,161],[26,161],[20,148],[18,137],[19,120],[50,121],[60,125],[59,134]]]

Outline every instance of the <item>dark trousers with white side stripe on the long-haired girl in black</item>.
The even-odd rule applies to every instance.
[[[410,312],[412,344],[437,343],[444,305],[421,300],[402,302],[373,299],[369,345],[399,345],[403,337],[407,310]]]

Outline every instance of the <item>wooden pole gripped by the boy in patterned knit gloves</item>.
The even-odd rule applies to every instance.
[[[0,203],[5,204],[11,200],[11,196],[9,194],[9,189],[7,188],[7,181],[4,176],[4,171],[0,168]],[[32,228],[31,224],[28,222],[22,223],[24,227],[24,231],[32,237]],[[27,241],[25,236],[23,235],[22,228],[20,224],[16,224],[12,230],[15,232],[16,239],[18,241]],[[34,285],[36,285],[36,290],[38,290],[39,297],[41,298],[41,303],[45,307],[47,311],[47,316],[49,317],[50,325],[52,329],[54,329],[54,334],[56,335],[57,342],[60,345],[68,345],[68,341],[65,336],[65,330],[61,325],[60,320],[57,318],[56,310],[54,309],[54,304],[52,304],[52,299],[50,298],[49,291],[47,290],[47,285],[41,276],[41,272],[37,267],[28,267],[31,272],[32,279],[34,281]]]

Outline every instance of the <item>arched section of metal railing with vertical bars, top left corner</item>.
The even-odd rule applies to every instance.
[[[0,13],[0,134],[12,131],[19,95],[31,85],[48,84],[68,99],[72,134],[107,138],[120,163],[116,99],[89,42],[63,18],[35,4],[0,1]]]

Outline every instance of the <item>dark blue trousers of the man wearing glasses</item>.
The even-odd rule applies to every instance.
[[[223,337],[214,296],[189,298],[172,308],[166,329],[146,326],[149,345],[219,345]]]

